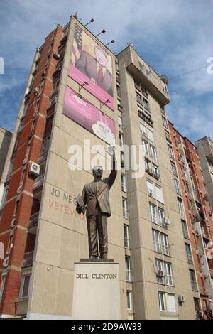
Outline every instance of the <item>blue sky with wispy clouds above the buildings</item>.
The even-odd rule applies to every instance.
[[[207,66],[213,57],[213,0],[0,0],[0,126],[12,130],[35,48],[77,11],[82,23],[94,18],[103,43],[114,53],[133,42],[159,75],[169,78]],[[213,75],[207,69],[170,80],[168,117],[192,141],[213,137]]]

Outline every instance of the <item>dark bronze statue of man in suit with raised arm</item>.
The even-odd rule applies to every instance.
[[[77,198],[76,210],[83,214],[87,212],[89,259],[97,259],[98,256],[100,259],[107,259],[107,217],[111,216],[109,190],[117,175],[114,150],[109,177],[102,179],[102,166],[95,166],[92,173],[94,180],[84,185],[82,197],[79,195]]]

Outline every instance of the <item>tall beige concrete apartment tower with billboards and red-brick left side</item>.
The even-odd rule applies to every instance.
[[[105,161],[114,140],[121,170],[110,194],[108,255],[120,263],[121,318],[195,319],[202,311],[208,296],[200,292],[195,244],[182,235],[185,195],[174,185],[169,102],[166,77],[131,45],[114,55],[73,16],[36,50],[3,174],[2,317],[72,318],[74,262],[88,255],[75,204],[92,166],[76,159],[76,169],[70,156],[90,146],[97,154],[102,145]],[[143,146],[143,177],[124,168],[124,144]]]

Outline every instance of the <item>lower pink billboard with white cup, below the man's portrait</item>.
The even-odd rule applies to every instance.
[[[66,87],[63,114],[84,126],[107,144],[115,145],[115,124],[113,119],[102,113],[86,99]]]

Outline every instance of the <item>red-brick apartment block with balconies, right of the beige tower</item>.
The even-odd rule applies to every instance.
[[[209,305],[213,306],[213,263],[208,256],[209,242],[213,237],[212,212],[196,146],[175,130],[170,122],[169,129],[175,157],[172,166],[174,185],[182,212],[182,235],[192,290],[200,293],[200,300],[194,296],[195,307],[199,312],[206,310]]]

